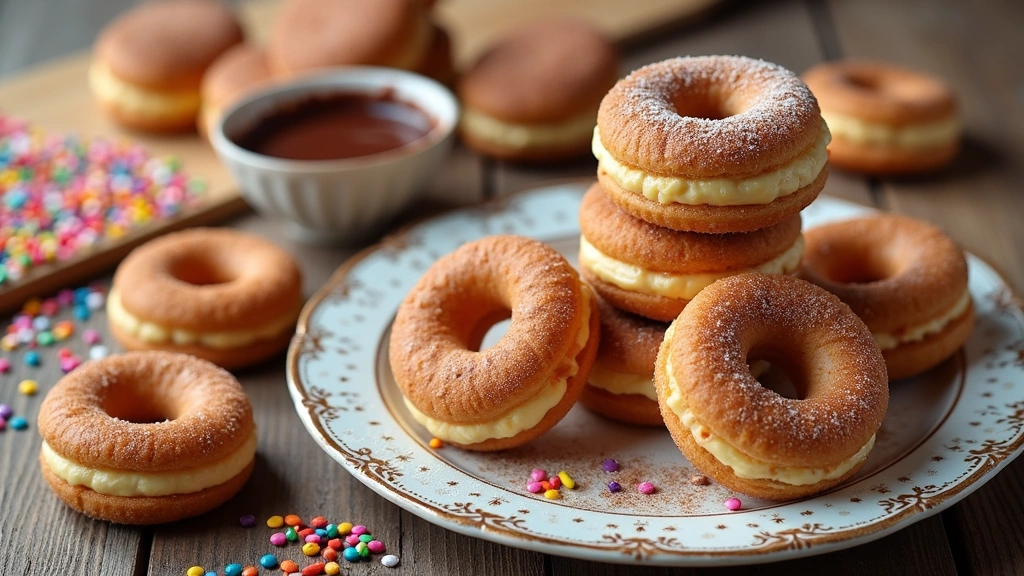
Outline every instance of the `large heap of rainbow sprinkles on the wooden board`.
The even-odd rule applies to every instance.
[[[205,192],[128,140],[47,133],[0,114],[0,285],[177,214]]]

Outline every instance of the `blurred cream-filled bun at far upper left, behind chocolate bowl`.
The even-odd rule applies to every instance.
[[[242,39],[238,19],[220,2],[146,2],[99,34],[89,85],[99,107],[127,128],[191,130],[203,74]]]

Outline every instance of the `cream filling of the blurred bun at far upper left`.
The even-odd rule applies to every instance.
[[[178,92],[150,90],[119,79],[99,61],[89,67],[89,86],[101,101],[115,105],[118,110],[132,116],[160,119],[195,115],[200,109],[198,89]]]

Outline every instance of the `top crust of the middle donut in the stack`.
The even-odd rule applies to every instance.
[[[695,234],[654,225],[618,209],[595,183],[580,206],[580,230],[595,248],[644,270],[666,274],[721,273],[763,264],[800,238],[800,214],[742,234]]]

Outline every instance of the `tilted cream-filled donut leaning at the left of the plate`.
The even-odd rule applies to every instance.
[[[508,332],[479,351],[487,330]],[[558,423],[590,374],[596,297],[558,252],[493,236],[440,258],[409,293],[390,361],[413,417],[469,450],[520,446]]]

